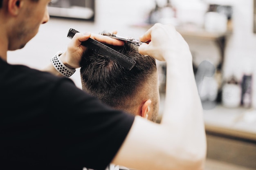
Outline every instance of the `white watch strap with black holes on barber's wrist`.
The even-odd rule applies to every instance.
[[[52,56],[51,58],[52,65],[61,75],[65,77],[70,77],[71,75],[74,74],[76,69],[71,69],[65,66],[59,57],[61,54],[62,52],[58,51],[54,56]]]

